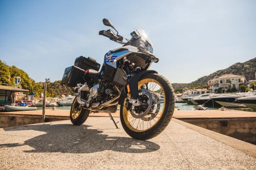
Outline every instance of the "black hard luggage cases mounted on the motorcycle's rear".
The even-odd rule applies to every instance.
[[[97,63],[95,59],[91,57],[86,58],[83,56],[76,58],[74,65],[84,70],[94,69],[98,71],[100,68],[100,64]],[[84,72],[82,70],[74,66],[67,67],[64,71],[61,84],[75,87],[77,83],[83,84],[85,82],[83,76]]]

